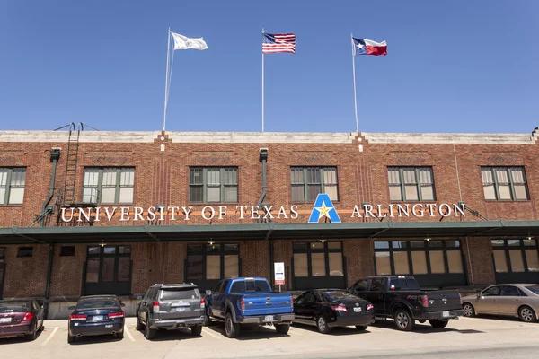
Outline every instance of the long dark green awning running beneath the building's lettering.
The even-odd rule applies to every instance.
[[[253,223],[204,225],[12,227],[0,229],[1,244],[94,243],[95,241],[257,241],[429,237],[526,237],[539,235],[539,221]]]

